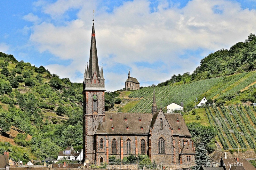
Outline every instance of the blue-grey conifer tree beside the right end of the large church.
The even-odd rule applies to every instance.
[[[196,169],[199,169],[201,165],[206,166],[210,162],[210,156],[208,155],[208,151],[205,149],[203,142],[196,147],[195,159]]]

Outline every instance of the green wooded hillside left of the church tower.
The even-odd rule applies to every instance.
[[[82,148],[82,83],[0,52],[0,154],[15,160],[57,157]]]

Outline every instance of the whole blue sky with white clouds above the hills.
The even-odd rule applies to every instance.
[[[106,89],[192,73],[200,60],[256,31],[255,0],[0,1],[0,51],[82,82],[92,11]]]

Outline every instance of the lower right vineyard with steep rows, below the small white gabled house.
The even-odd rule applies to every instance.
[[[207,106],[205,112],[224,149],[237,148],[238,144],[240,148],[255,148],[255,108],[233,105],[220,108]]]

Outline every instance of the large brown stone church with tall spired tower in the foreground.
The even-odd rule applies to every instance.
[[[105,112],[105,79],[99,69],[94,20],[89,57],[84,73],[83,161],[108,163],[110,156],[123,159],[147,154],[151,161],[185,164],[195,161],[191,134],[180,114],[157,110],[155,90],[151,113]]]

